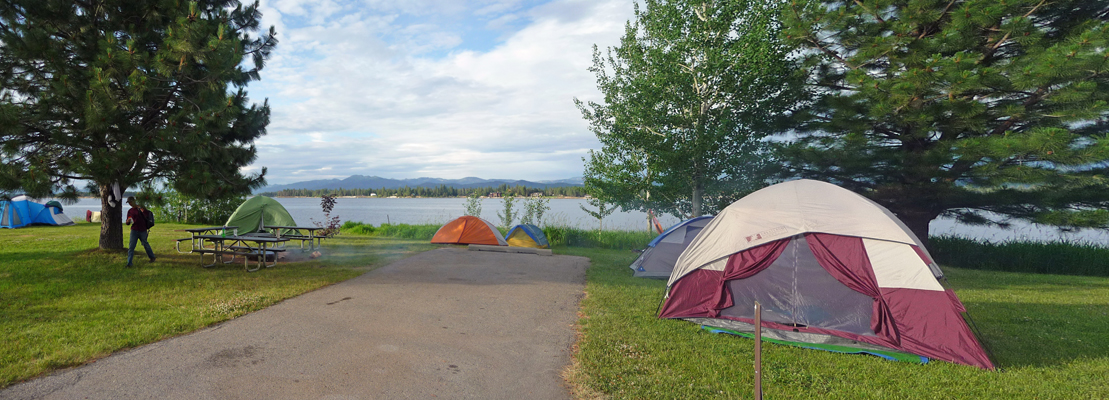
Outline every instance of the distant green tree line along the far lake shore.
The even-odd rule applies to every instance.
[[[587,192],[582,186],[559,186],[559,187],[527,187],[523,185],[500,185],[486,187],[450,187],[439,185],[435,187],[409,187],[399,188],[287,188],[276,192],[261,193],[272,197],[321,197],[321,196],[358,196],[358,197],[467,197],[471,194],[478,196],[516,196],[525,197],[540,195],[547,197],[584,197]]]

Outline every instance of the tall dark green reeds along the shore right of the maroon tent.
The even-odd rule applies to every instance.
[[[1092,243],[999,242],[934,236],[936,263],[957,268],[1057,275],[1109,276],[1109,248]]]

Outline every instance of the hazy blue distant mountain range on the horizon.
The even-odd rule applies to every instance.
[[[322,189],[322,188],[401,188],[408,187],[438,187],[447,185],[456,188],[472,187],[497,187],[500,185],[527,186],[536,188],[582,186],[584,182],[581,177],[571,177],[557,181],[520,181],[520,180],[482,180],[479,177],[464,177],[460,180],[444,180],[438,177],[417,177],[411,180],[390,180],[380,176],[352,175],[344,180],[317,180],[304,181],[285,185],[269,185],[254,191],[255,193],[269,193],[287,188]]]

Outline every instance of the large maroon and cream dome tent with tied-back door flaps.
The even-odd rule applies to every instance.
[[[888,209],[792,181],[721,212],[679,257],[660,318],[772,341],[994,369],[943,273]]]

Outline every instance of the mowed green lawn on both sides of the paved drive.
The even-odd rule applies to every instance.
[[[185,227],[159,225],[151,234],[159,260],[152,265],[136,255],[138,268],[123,268],[124,253],[95,250],[99,225],[0,229],[0,388],[438,247],[426,238],[343,235],[326,242],[319,259],[245,273],[242,264],[204,269],[196,255],[177,254],[173,239],[185,235],[173,229]],[[606,240],[614,239],[593,242]],[[655,318],[665,283],[632,278],[628,265],[634,253],[583,247],[556,253],[592,259],[569,373],[579,398],[752,397],[754,342]],[[767,343],[766,398],[1109,398],[1109,278],[945,271],[1000,371]]]

